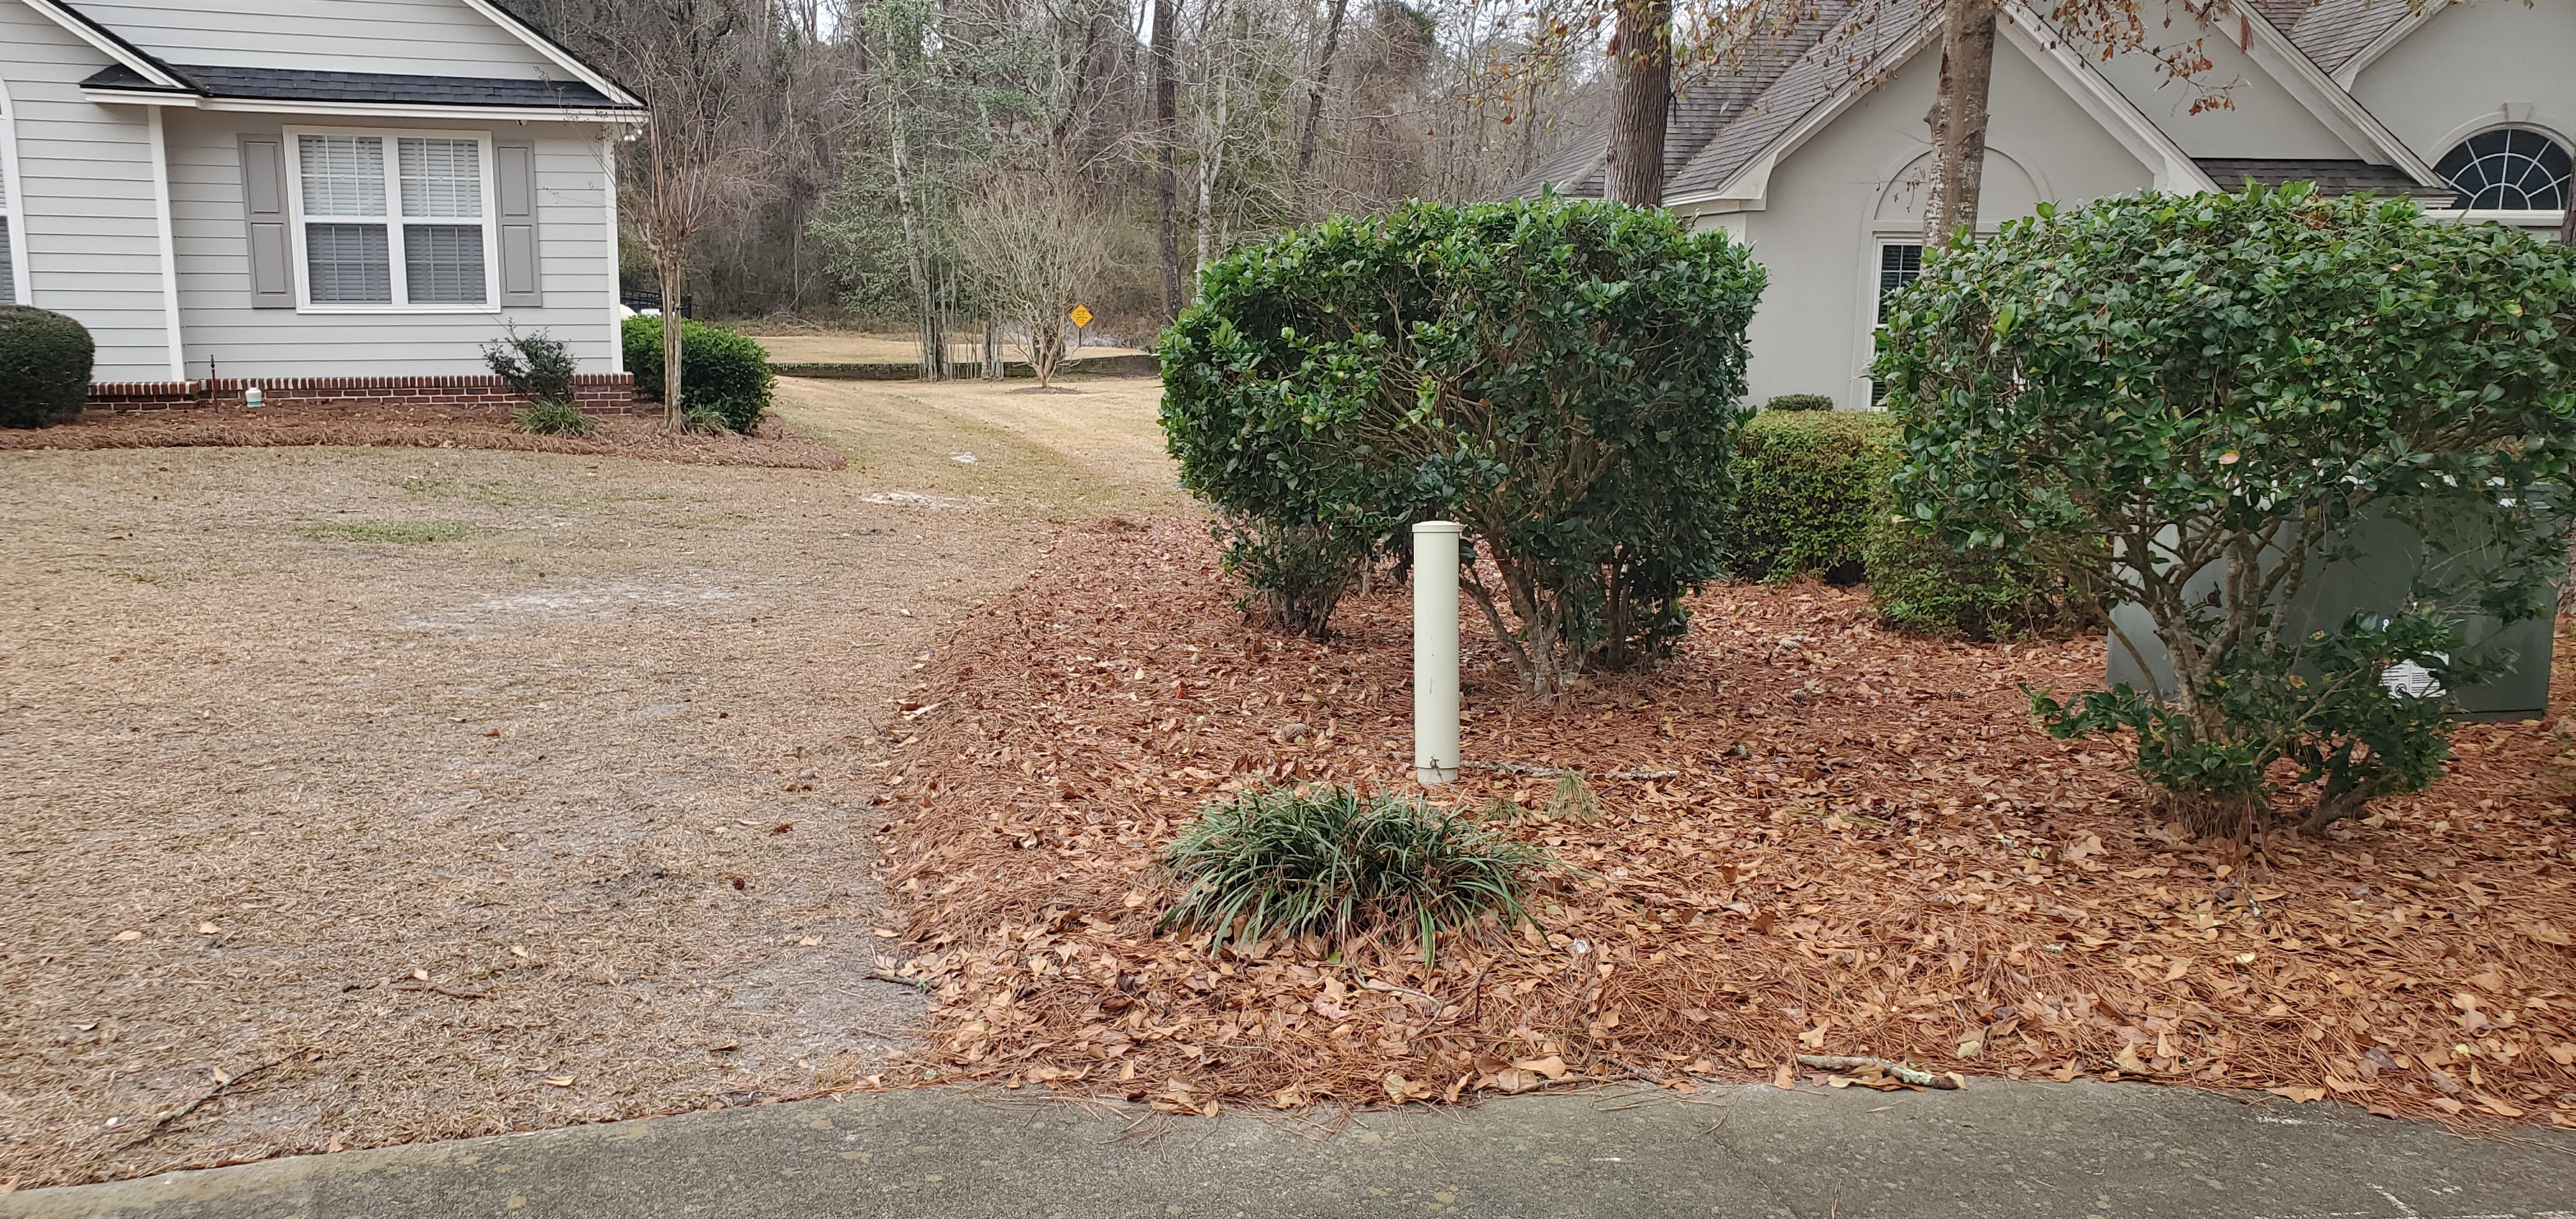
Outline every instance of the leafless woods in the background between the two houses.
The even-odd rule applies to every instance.
[[[654,111],[618,149],[629,286],[672,253],[701,317],[922,327],[925,350],[1025,314],[979,273],[1015,250],[974,245],[1030,227],[979,224],[979,201],[1038,201],[1038,229],[1097,245],[1095,332],[1149,343],[1231,245],[1497,196],[1607,106],[1587,10],[1530,0],[515,10]]]

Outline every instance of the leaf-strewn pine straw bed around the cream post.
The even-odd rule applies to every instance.
[[[2576,1124],[2576,817],[2545,727],[2460,727],[2432,791],[2246,850],[2032,724],[2017,686],[2097,680],[2099,639],[1922,642],[1855,590],[1718,585],[1672,667],[1543,709],[1468,624],[1471,765],[1582,768],[1602,812],[1543,820],[1551,781],[1494,768],[1440,799],[1515,799],[1512,832],[1589,874],[1535,897],[1543,930],[1443,941],[1437,969],[1396,938],[1211,959],[1157,936],[1154,858],[1195,807],[1409,786],[1406,593],[1345,603],[1332,644],[1229,595],[1200,526],[1113,521],[925,665],[884,796],[886,933],[914,956],[881,961],[933,995],[920,1075],[1213,1111],[1785,1088],[1824,1051]]]

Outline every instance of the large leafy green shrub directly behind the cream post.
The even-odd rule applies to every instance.
[[[1659,660],[1721,570],[1762,268],[1662,209],[1334,216],[1236,250],[1162,338],[1182,487],[1365,554],[1453,518],[1522,683]],[[1510,611],[1510,624],[1504,624]]]

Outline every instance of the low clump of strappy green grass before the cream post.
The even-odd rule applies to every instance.
[[[1213,930],[1208,951],[1229,936],[1345,941],[1412,928],[1425,964],[1443,930],[1484,912],[1504,925],[1525,920],[1530,876],[1564,866],[1445,809],[1347,786],[1252,789],[1208,804],[1162,861],[1182,889],[1162,925]]]

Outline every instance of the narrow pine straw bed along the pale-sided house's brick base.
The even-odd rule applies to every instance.
[[[850,461],[778,418],[755,436],[675,436],[659,415],[592,415],[590,436],[531,436],[510,425],[507,407],[399,407],[381,402],[281,402],[270,407],[198,407],[82,412],[62,428],[0,428],[0,448],[513,448],[531,454],[639,456],[693,466],[842,469]]]

